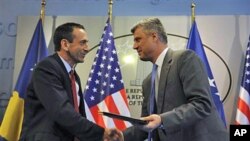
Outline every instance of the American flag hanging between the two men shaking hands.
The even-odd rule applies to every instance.
[[[124,130],[131,124],[100,115],[99,111],[130,116],[127,96],[115,49],[112,28],[107,20],[100,46],[85,87],[87,118],[104,128]]]

